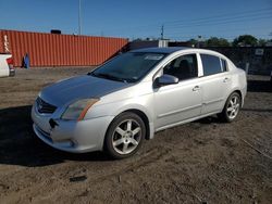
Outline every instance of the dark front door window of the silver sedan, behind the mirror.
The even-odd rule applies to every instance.
[[[198,76],[196,54],[186,54],[171,61],[164,68],[163,74],[177,77],[180,80]]]

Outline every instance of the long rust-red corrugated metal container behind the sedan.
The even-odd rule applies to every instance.
[[[99,65],[125,48],[124,38],[0,30],[0,52],[11,52],[14,66],[28,53],[30,66]]]

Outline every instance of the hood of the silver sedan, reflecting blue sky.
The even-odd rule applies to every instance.
[[[85,75],[48,86],[40,92],[40,97],[48,103],[61,106],[77,99],[101,98],[129,86],[132,84]]]

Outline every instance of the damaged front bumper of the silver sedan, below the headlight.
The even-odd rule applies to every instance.
[[[45,143],[72,153],[101,151],[107,129],[113,116],[103,116],[86,120],[54,119],[57,126],[51,128],[51,114],[40,114],[35,105],[32,110],[33,129]]]

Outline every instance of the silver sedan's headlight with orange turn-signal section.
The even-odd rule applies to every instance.
[[[61,118],[82,120],[87,111],[98,101],[99,99],[82,99],[76,101],[67,106]]]

